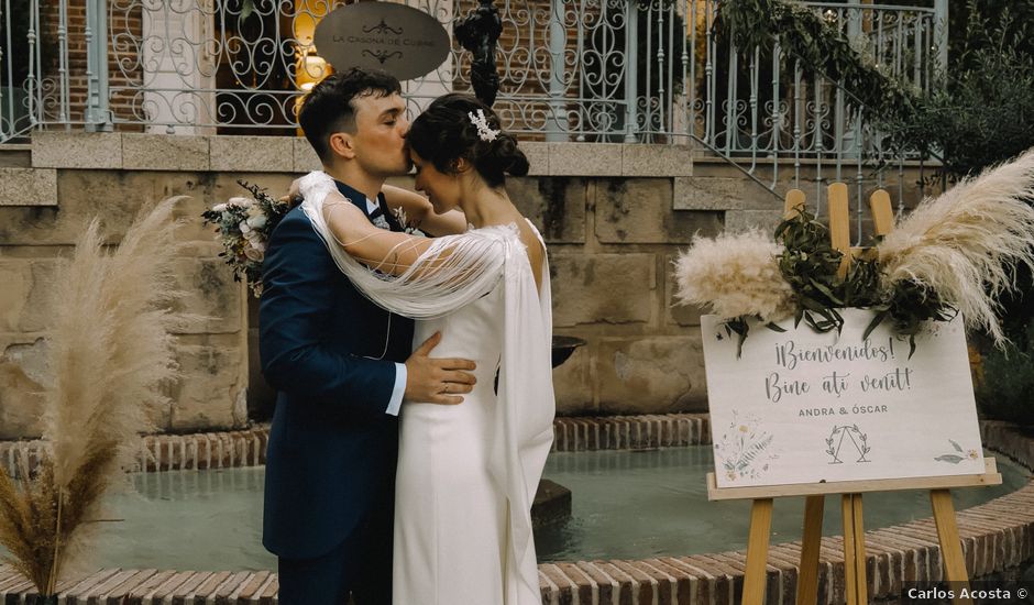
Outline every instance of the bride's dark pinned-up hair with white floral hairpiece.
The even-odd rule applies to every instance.
[[[481,116],[484,124],[479,127]],[[470,95],[452,92],[435,99],[413,121],[406,140],[441,173],[454,174],[459,161],[466,160],[490,187],[503,185],[507,174],[528,174],[528,158],[517,139],[503,132],[492,108]]]

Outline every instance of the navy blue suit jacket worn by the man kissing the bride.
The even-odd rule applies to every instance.
[[[364,195],[338,188],[366,212]],[[301,209],[288,212],[270,238],[258,312],[262,371],[279,392],[262,538],[275,554],[323,554],[371,509],[394,506],[398,419],[385,410],[413,321],[391,316],[388,334],[388,317],[338,270]],[[387,354],[372,359],[386,338]]]

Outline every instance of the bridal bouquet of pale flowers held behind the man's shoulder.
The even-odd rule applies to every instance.
[[[226,258],[233,268],[233,280],[243,279],[254,293],[262,296],[262,261],[266,242],[280,219],[290,210],[290,204],[275,199],[257,185],[238,180],[251,197],[233,197],[201,213],[205,224],[215,224]]]

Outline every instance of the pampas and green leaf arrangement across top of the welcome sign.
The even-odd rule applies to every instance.
[[[794,324],[839,331],[837,309],[858,307],[876,311],[866,336],[889,319],[913,350],[927,321],[959,312],[1002,346],[999,297],[1015,287],[1016,265],[1034,268],[1032,200],[1034,150],[924,199],[845,277],[828,229],[801,208],[774,238],[750,231],[695,240],[675,261],[676,297],[710,308],[740,345],[749,318],[776,330],[774,322],[793,317]]]

